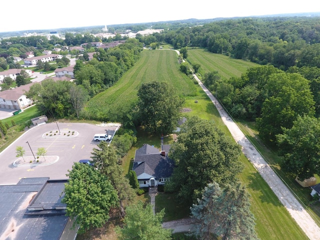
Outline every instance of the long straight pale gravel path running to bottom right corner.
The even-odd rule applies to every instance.
[[[293,219],[311,240],[320,239],[320,228],[311,218],[309,213],[293,196],[291,191],[284,185],[272,168],[266,163],[251,142],[244,136],[242,131],[224,111],[219,102],[215,100],[215,97],[212,95],[212,93],[202,84],[196,75],[193,76],[198,81],[204,92],[209,96],[215,107],[218,109],[224,124],[228,127],[235,141],[242,146],[242,152],[244,155],[252,162],[254,167],[268,183],[281,203],[286,207]]]

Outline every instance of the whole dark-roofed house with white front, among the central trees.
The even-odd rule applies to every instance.
[[[170,145],[161,145],[161,151],[149,144],[135,150],[133,167],[140,187],[163,185],[172,174],[174,162],[167,156]]]

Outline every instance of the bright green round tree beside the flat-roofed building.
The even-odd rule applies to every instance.
[[[92,166],[75,162],[68,170],[63,203],[66,215],[74,218],[83,233],[92,227],[101,227],[109,219],[109,210],[117,205],[117,194],[104,174]]]

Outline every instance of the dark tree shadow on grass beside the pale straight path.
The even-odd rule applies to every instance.
[[[248,177],[247,187],[259,196],[262,203],[270,203],[275,206],[281,206],[281,202],[274,194],[269,185],[264,181],[258,172],[251,173]]]

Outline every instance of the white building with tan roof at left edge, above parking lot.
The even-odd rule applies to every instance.
[[[32,100],[27,98],[25,92],[30,89],[35,82],[20,85],[13,89],[0,91],[0,108],[23,109],[32,104]]]

